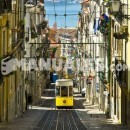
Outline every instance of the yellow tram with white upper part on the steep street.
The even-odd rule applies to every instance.
[[[56,107],[73,107],[73,81],[58,79],[55,86]]]

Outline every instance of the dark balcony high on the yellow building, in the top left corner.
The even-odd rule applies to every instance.
[[[11,11],[12,0],[1,0],[0,2],[0,14],[5,11]]]

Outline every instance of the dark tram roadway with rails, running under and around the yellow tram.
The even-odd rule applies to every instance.
[[[76,113],[76,109],[81,108],[80,101],[76,100],[74,109],[57,109],[55,99],[53,99],[54,91],[47,91],[46,95],[48,98],[41,106],[45,108],[45,112],[34,130],[84,130],[81,129],[82,126]]]

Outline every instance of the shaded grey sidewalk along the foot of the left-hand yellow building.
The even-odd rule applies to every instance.
[[[17,117],[8,123],[0,123],[0,130],[33,130],[40,118],[43,110],[28,109],[21,117]]]

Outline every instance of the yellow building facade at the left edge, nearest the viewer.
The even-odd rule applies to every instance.
[[[0,59],[22,57],[23,7],[21,1],[6,1],[0,7]],[[19,4],[21,6],[19,6]],[[8,59],[9,60],[9,59]],[[8,61],[7,60],[7,61]],[[6,62],[6,61],[5,61]],[[2,69],[2,68],[1,68]],[[14,119],[25,109],[22,71],[1,75],[0,83],[0,122]],[[2,78],[3,77],[3,78]]]

